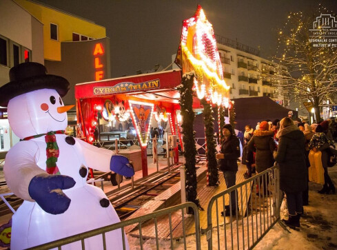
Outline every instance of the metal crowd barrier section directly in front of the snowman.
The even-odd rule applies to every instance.
[[[194,222],[195,222],[195,244],[196,246],[193,249],[201,249],[201,240],[200,240],[200,224],[199,224],[199,212],[198,212],[198,207],[193,203],[193,202],[186,202],[181,205],[176,205],[174,207],[167,207],[165,209],[161,209],[159,211],[154,211],[153,213],[146,214],[144,216],[132,218],[130,220],[124,220],[121,222],[118,222],[113,225],[109,225],[107,227],[101,227],[99,229],[94,229],[92,231],[88,231],[85,233],[79,233],[74,236],[70,236],[67,238],[63,238],[61,240],[55,240],[53,242],[49,242],[46,244],[41,244],[37,247],[32,247],[30,249],[52,249],[58,247],[59,249],[62,249],[62,246],[65,244],[70,244],[72,242],[77,242],[81,241],[82,249],[85,249],[85,239],[90,238],[93,236],[98,236],[101,234],[102,236],[102,241],[103,241],[103,249],[106,249],[105,247],[105,242],[108,240],[108,238],[105,238],[105,233],[108,233],[109,231],[113,230],[121,230],[122,231],[122,238],[123,238],[123,249],[125,249],[125,234],[124,228],[130,225],[135,225],[138,224],[138,231],[139,231],[139,247],[140,249],[144,249],[144,241],[145,239],[142,236],[142,223],[147,222],[149,220],[152,220],[154,222],[154,231],[156,233],[156,249],[159,249],[159,235],[158,235],[158,218],[161,216],[169,216],[169,227],[170,227],[170,244],[171,244],[171,249],[174,249],[174,237],[173,237],[173,228],[172,228],[172,213],[176,211],[181,211],[181,219],[183,223],[183,240],[184,240],[184,249],[187,249],[187,244],[186,244],[186,231],[185,231],[185,209],[191,208],[194,211]],[[138,247],[138,246],[137,246]],[[153,246],[154,247],[154,246]],[[190,247],[190,246],[189,246]],[[131,247],[130,247],[131,249]],[[154,249],[154,248],[152,248]]]

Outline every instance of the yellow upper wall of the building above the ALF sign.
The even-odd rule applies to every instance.
[[[43,23],[44,58],[61,61],[61,42],[72,41],[72,33],[93,39],[106,37],[105,28],[93,22],[27,0],[14,0]],[[58,39],[50,39],[50,23],[58,25]]]

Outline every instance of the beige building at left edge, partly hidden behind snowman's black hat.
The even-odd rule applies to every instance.
[[[43,23],[12,0],[0,1],[0,86],[19,63],[43,63]],[[0,158],[19,138],[12,133],[7,109],[0,107]]]

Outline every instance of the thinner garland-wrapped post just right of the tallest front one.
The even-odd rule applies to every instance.
[[[214,140],[214,118],[212,105],[207,103],[205,98],[201,100],[203,105],[203,121],[205,125],[205,136],[207,143],[207,169],[208,169],[208,183],[210,186],[218,186],[218,166],[216,162],[216,142]]]

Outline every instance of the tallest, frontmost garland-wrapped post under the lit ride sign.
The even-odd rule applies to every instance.
[[[186,199],[187,201],[194,202],[200,207],[200,202],[196,198],[196,145],[195,145],[195,132],[193,129],[194,124],[194,110],[193,104],[193,80],[194,72],[183,75],[181,85],[178,86],[178,90],[181,95],[181,116],[183,121],[181,127],[183,128],[183,143],[185,157],[185,176],[186,176]],[[191,211],[189,211],[191,212]]]

